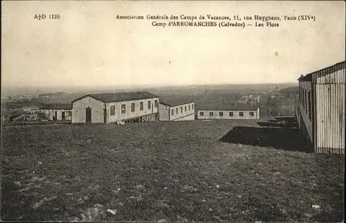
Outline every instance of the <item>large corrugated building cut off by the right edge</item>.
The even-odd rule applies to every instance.
[[[296,117],[315,153],[345,154],[345,61],[299,81]]]

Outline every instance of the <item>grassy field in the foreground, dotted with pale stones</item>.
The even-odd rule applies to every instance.
[[[289,128],[196,120],[1,133],[1,220],[343,220],[345,157],[304,152]]]

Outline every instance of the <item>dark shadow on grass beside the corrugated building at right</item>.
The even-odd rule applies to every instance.
[[[219,140],[234,144],[273,147],[285,151],[313,152],[298,128],[236,126]]]

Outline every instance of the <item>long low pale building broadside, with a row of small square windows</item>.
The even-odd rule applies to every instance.
[[[197,119],[260,119],[260,108],[248,104],[218,105],[201,108]]]

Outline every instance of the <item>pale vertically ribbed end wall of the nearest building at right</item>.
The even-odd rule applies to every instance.
[[[328,68],[331,69],[330,74],[328,70],[322,70],[313,77],[316,153],[345,154],[345,64],[343,67],[340,67],[342,64],[337,66]],[[327,75],[323,72],[327,72]]]

